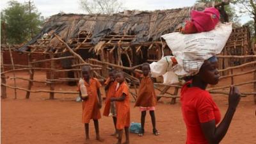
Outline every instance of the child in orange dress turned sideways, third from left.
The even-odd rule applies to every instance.
[[[115,97],[111,97],[111,102],[116,102],[116,130],[118,133],[118,141],[116,144],[122,143],[122,135],[125,130],[125,144],[129,144],[129,125],[130,125],[130,102],[129,87],[125,83],[123,72],[116,73]]]

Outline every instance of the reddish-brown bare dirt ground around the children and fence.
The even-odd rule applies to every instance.
[[[16,74],[20,77],[28,77],[27,72]],[[9,76],[12,76],[11,74]],[[45,79],[44,72],[36,72],[36,80]],[[235,83],[250,81],[252,74],[238,76]],[[230,83],[230,79],[221,81],[217,86]],[[13,81],[8,79],[8,84]],[[26,81],[17,81],[17,85],[27,87]],[[241,92],[253,92],[253,84],[239,87]],[[49,90],[49,86],[35,83],[33,90]],[[58,85],[56,90],[74,91],[76,86]],[[226,89],[225,91],[227,91]],[[170,90],[172,92],[172,90]],[[102,90],[102,93],[103,90]],[[1,143],[3,144],[45,144],[45,143],[84,143],[84,126],[81,124],[82,105],[76,102],[77,95],[55,95],[55,100],[49,100],[48,93],[31,93],[31,99],[24,99],[26,93],[17,91],[17,99],[14,100],[14,92],[7,88],[7,99],[1,100]],[[221,110],[221,117],[227,110],[227,95],[212,95],[214,101]],[[132,98],[131,98],[132,99]],[[152,124],[147,113],[145,124],[145,136],[130,134],[131,144],[179,144],[186,142],[186,127],[182,120],[180,102],[169,104],[170,99],[161,99],[156,107],[157,129],[159,136],[152,134]],[[104,108],[104,105],[103,105]],[[237,108],[232,124],[221,143],[225,144],[250,144],[256,143],[256,105],[253,96],[243,97]],[[102,109],[101,109],[102,110]],[[134,108],[131,102],[131,122],[140,122],[140,112]],[[109,136],[114,127],[112,118],[102,116],[99,121],[100,134],[104,138],[103,143],[115,143],[116,138]],[[98,144],[95,140],[93,122],[90,123],[89,143]]]

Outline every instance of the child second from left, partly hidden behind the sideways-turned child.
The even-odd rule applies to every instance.
[[[113,111],[115,110],[115,109],[113,109],[113,108],[115,108],[115,106],[114,106],[115,103],[110,102],[110,98],[115,97],[115,90],[116,90],[116,85],[117,85],[117,82],[115,80],[115,73],[116,73],[115,70],[110,70],[109,77],[105,82],[105,84],[106,84],[106,87],[105,87],[106,102],[105,102],[105,104],[106,105],[105,105],[104,112],[103,112],[104,116],[112,116],[113,117],[113,123],[115,125],[115,132],[113,134],[111,134],[111,136],[116,136],[116,114],[113,113]]]

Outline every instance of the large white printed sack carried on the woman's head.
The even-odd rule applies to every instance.
[[[232,23],[218,24],[212,31],[184,35],[169,33],[166,40],[178,65],[172,69],[177,76],[193,76],[198,73],[204,60],[220,54],[232,32]]]

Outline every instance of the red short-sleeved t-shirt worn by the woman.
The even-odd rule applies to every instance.
[[[186,144],[208,144],[200,123],[215,120],[218,124],[221,118],[220,109],[209,92],[197,87],[188,87],[190,83],[186,83],[180,93],[183,120],[187,128]]]

